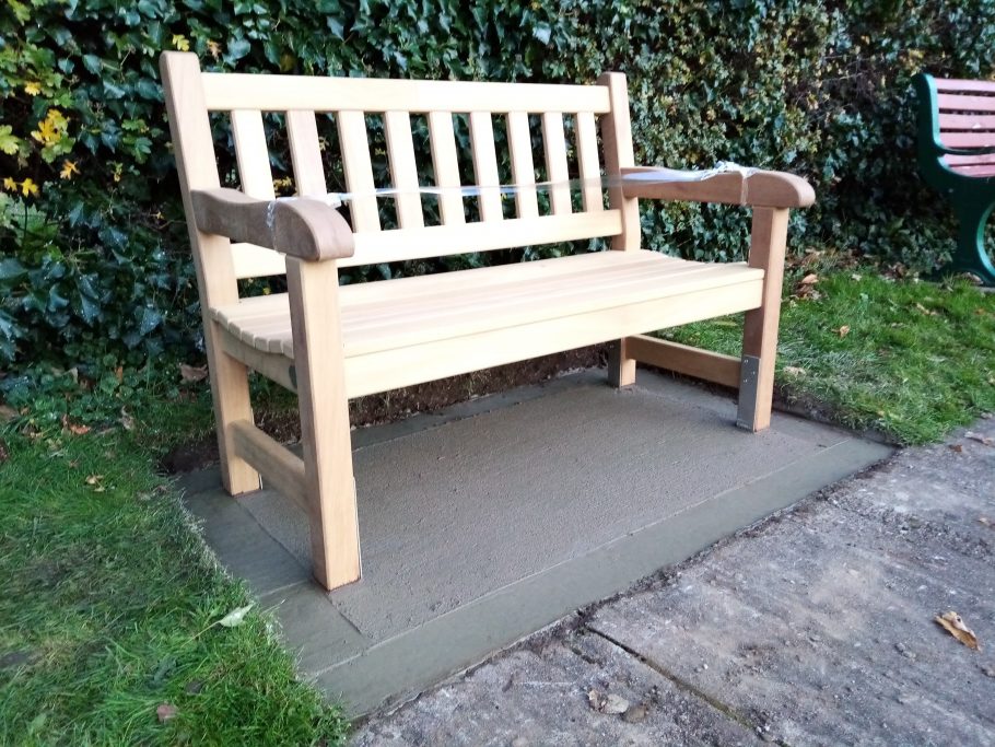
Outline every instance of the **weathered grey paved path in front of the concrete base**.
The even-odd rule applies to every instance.
[[[686,715],[705,708],[730,727],[793,747],[995,744],[995,446],[984,443],[995,440],[995,419],[972,431],[979,437],[960,432],[905,450],[373,717],[356,743],[415,744],[406,739],[417,735],[418,744],[522,747],[736,744],[740,731],[716,736],[711,719]],[[981,651],[934,622],[951,609]],[[604,640],[600,656],[575,645],[583,637]],[[595,662],[610,680],[600,687],[634,695],[634,703],[645,696],[639,700],[632,682],[649,681],[648,668],[686,698],[669,714],[692,726],[675,733],[647,716],[622,731],[624,715],[589,707],[581,717],[592,680],[576,662],[557,665],[576,675],[573,687],[530,697],[515,684],[541,673],[530,655],[540,642],[540,651],[560,646]],[[443,723],[445,714],[458,726]]]

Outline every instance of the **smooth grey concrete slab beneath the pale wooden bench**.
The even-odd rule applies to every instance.
[[[734,421],[701,388],[641,372],[618,392],[586,372],[356,431],[364,577],[327,596],[292,503],[215,489],[188,504],[302,667],[365,713],[890,453],[789,416],[760,434]]]

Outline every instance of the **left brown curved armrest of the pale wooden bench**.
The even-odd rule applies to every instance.
[[[190,200],[197,227],[204,233],[307,260],[341,259],[355,250],[349,223],[320,200],[259,200],[224,187],[195,189]]]

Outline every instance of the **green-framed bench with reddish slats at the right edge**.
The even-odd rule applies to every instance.
[[[960,223],[948,269],[995,285],[984,229],[995,207],[995,82],[913,78],[918,97],[918,166],[953,205]]]

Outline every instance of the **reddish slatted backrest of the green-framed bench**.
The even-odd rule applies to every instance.
[[[930,118],[933,138],[944,148],[995,148],[995,82],[923,77],[924,114]],[[947,154],[944,162],[956,171],[995,166],[995,154]]]

